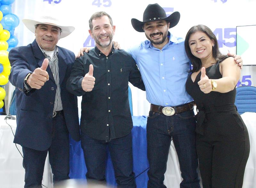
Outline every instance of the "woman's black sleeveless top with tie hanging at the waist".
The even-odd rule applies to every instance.
[[[226,59],[225,57],[224,59]],[[222,78],[220,74],[220,63],[224,60],[221,59],[219,62],[213,64],[211,67],[205,69],[206,75],[209,79],[219,79]],[[186,90],[188,94],[194,98],[196,103],[196,108],[198,110],[196,116],[196,132],[203,134],[204,128],[203,124],[205,122],[205,116],[213,112],[236,112],[235,98],[236,98],[236,88],[227,93],[220,93],[216,91],[211,91],[205,94],[199,88],[197,82],[200,81],[201,72],[196,76],[195,82],[191,80],[191,74],[188,76],[186,82]]]

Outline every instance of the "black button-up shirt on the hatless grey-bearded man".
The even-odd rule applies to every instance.
[[[82,80],[93,65],[95,85],[92,91],[82,89]],[[81,131],[89,137],[109,140],[128,135],[132,116],[128,100],[128,82],[145,90],[134,59],[124,50],[114,48],[105,56],[95,47],[77,58],[67,82],[71,93],[82,96]]]

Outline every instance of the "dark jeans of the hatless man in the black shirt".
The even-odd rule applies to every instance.
[[[134,172],[132,171],[132,133],[113,140],[97,140],[88,137],[81,131],[81,145],[84,150],[88,182],[106,181],[105,169],[108,147],[118,187],[136,187]]]

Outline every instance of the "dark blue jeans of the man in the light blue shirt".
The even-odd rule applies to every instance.
[[[197,174],[196,121],[194,111],[166,116],[149,111],[147,121],[148,188],[166,188],[163,184],[169,148],[173,140],[180,163],[181,188],[200,188]]]

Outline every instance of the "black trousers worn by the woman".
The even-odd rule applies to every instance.
[[[196,150],[203,188],[242,188],[250,141],[237,112],[208,114]]]

